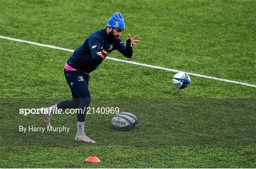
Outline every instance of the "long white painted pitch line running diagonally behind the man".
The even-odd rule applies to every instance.
[[[57,46],[46,45],[46,44],[37,43],[37,42],[24,41],[24,40],[21,40],[21,39],[15,39],[15,38],[10,38],[10,37],[6,37],[6,36],[0,36],[0,38],[1,39],[7,39],[7,40],[10,40],[10,41],[34,44],[34,45],[37,45],[37,46],[43,46],[43,47],[57,49],[57,50],[61,50],[61,51],[70,51],[70,52],[74,51],[74,50],[71,50],[71,49],[60,48],[60,47],[57,47]],[[163,67],[159,67],[159,66],[148,65],[148,64],[145,64],[145,63],[138,63],[138,62],[134,62],[134,61],[116,59],[116,58],[111,58],[111,57],[107,57],[106,59],[115,60],[115,61],[118,61],[118,62],[130,63],[130,64],[133,64],[133,65],[139,65],[139,66],[144,66],[144,67],[148,67],[148,68],[161,69],[161,70],[165,70],[165,71],[169,71],[169,72],[182,72],[181,70],[176,70],[176,69],[171,69],[171,68],[163,68]],[[196,73],[189,73],[189,72],[186,72],[186,73],[189,74],[189,75],[192,75],[192,76],[198,76],[198,77],[218,80],[218,81],[222,81],[222,82],[229,82],[229,83],[233,83],[233,84],[241,84],[241,85],[246,85],[246,86],[250,86],[250,87],[256,87],[255,84],[247,84],[247,83],[244,83],[244,82],[238,82],[238,81],[233,81],[233,80],[228,80],[228,79],[223,79],[223,78],[213,77],[213,76],[205,76],[205,75],[200,75],[200,74],[196,74]]]

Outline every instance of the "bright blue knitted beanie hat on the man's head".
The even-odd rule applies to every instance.
[[[107,25],[108,27],[112,27],[115,29],[125,29],[124,18],[122,17],[120,12],[114,13],[112,17],[110,17]]]

